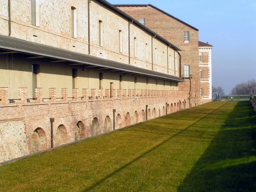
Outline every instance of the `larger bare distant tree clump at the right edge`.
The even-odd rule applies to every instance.
[[[232,95],[256,95],[255,79],[240,83],[234,86],[231,90]]]

